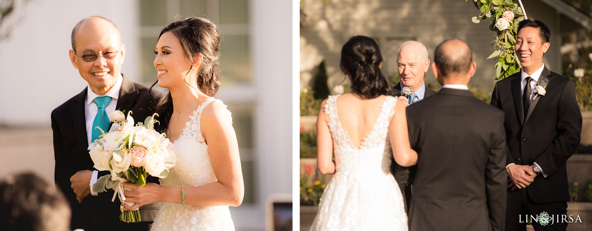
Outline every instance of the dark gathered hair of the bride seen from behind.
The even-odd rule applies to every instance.
[[[340,67],[350,77],[352,92],[366,99],[392,95],[391,85],[380,69],[381,63],[378,44],[366,36],[350,38],[341,50]]]

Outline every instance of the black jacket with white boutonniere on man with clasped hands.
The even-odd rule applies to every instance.
[[[575,84],[546,67],[537,84],[546,86],[545,96],[530,102],[527,115],[522,109],[520,71],[496,83],[491,105],[504,111],[506,142],[510,149],[506,164],[539,164],[548,175],[535,177],[526,187],[536,203],[569,201],[565,161],[580,144],[582,115],[575,100]],[[526,120],[524,119],[526,117]],[[523,122],[525,121],[525,122]],[[520,193],[521,190],[509,193]]]

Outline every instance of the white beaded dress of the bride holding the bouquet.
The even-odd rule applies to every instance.
[[[212,102],[224,105],[221,100],[210,98],[195,109],[193,116],[189,116],[191,119],[179,138],[173,142],[179,160],[175,167],[170,168],[168,177],[159,180],[161,185],[192,188],[216,181],[200,125],[202,110]],[[230,111],[228,113],[229,123],[232,123]],[[201,207],[185,204],[184,208],[182,204],[163,203],[151,230],[234,230],[234,223],[228,206]]]

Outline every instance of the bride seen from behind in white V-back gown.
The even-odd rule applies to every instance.
[[[350,38],[340,65],[352,92],[321,103],[318,170],[334,176],[311,230],[407,230],[403,197],[390,171],[388,139],[391,121],[405,119],[407,99],[389,96],[391,86],[381,74],[382,56],[372,38]],[[415,160],[401,157],[406,156],[395,160],[403,166],[417,160],[417,155]]]

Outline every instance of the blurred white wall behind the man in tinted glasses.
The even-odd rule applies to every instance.
[[[50,126],[52,110],[86,87],[68,56],[72,28],[85,17],[101,15],[117,24],[127,49],[121,72],[134,79],[139,73],[136,5],[135,0],[29,1],[15,30],[0,42],[0,125]]]

